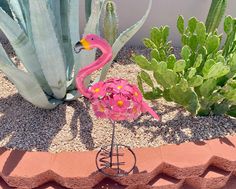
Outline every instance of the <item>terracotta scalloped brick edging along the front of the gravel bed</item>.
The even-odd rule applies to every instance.
[[[199,143],[134,149],[126,177],[97,172],[95,151],[24,152],[0,148],[0,188],[234,189],[236,136]]]

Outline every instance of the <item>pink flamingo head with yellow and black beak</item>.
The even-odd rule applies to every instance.
[[[109,44],[98,35],[88,34],[75,44],[74,50],[76,53],[79,53],[83,49],[92,50],[94,48],[102,48],[104,45]]]

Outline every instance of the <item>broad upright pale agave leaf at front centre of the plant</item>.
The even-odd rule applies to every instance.
[[[66,94],[63,54],[51,19],[52,10],[45,1],[29,1],[33,39],[43,73],[56,98]],[[42,19],[42,15],[44,15]]]

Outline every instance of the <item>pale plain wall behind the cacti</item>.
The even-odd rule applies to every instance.
[[[119,15],[119,30],[123,31],[134,24],[145,13],[148,0],[114,0],[117,4]],[[150,15],[140,31],[130,40],[129,45],[141,45],[140,40],[149,35],[152,26],[169,25],[171,28],[170,40],[179,46],[179,34],[176,29],[178,15],[183,15],[185,20],[196,16],[205,21],[211,0],[153,0]],[[84,20],[84,1],[81,1],[81,19]],[[236,0],[229,0],[226,14],[236,17]],[[84,22],[81,22],[81,28]]]

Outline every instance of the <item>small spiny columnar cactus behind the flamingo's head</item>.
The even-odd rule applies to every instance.
[[[113,1],[108,1],[105,6],[105,17],[103,22],[104,38],[113,45],[118,35],[118,16]]]

